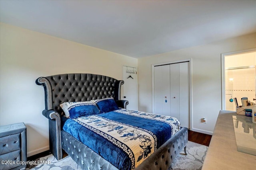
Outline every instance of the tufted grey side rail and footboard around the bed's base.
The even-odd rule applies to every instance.
[[[61,131],[62,149],[85,170],[118,170],[100,155],[72,137],[66,131]],[[188,143],[188,129],[182,127],[164,145],[150,155],[135,170],[167,170],[176,156],[185,150]]]

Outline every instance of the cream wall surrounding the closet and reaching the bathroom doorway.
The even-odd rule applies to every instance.
[[[152,112],[151,65],[192,59],[192,130],[212,134],[221,107],[221,54],[256,47],[256,33],[138,59],[139,110]],[[201,123],[205,117],[207,123]]]

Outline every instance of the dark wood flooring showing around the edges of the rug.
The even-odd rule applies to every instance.
[[[199,143],[201,145],[209,146],[211,138],[212,138],[212,135],[198,133],[198,132],[190,131],[188,129],[188,141],[192,141],[194,143]],[[42,153],[35,154],[33,156],[28,157],[28,160],[36,160],[37,158],[41,158],[41,157],[47,156],[49,154],[51,154],[50,150],[46,150]],[[67,156],[67,154],[63,153],[63,157],[66,157],[66,156]]]

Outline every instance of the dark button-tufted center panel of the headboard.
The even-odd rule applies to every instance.
[[[62,74],[46,77],[52,85],[53,109],[60,112],[60,103],[114,97],[116,79],[96,74]],[[102,83],[104,82],[104,84]],[[54,86],[54,84],[57,84]],[[54,90],[58,89],[58,90]]]

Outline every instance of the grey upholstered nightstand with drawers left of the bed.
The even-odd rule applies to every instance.
[[[25,168],[27,137],[24,123],[0,126],[0,170]],[[21,162],[22,161],[22,162]]]

